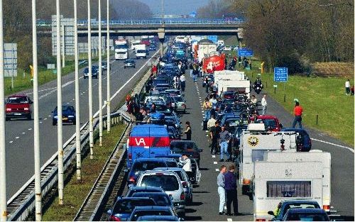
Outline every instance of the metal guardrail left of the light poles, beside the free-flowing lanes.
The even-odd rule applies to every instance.
[[[111,113],[111,118],[122,116],[119,111]],[[131,119],[128,116],[122,116],[125,122],[131,122]],[[107,120],[107,116],[103,117],[103,121]],[[99,125],[99,119],[94,119],[94,130]],[[84,123],[84,126],[80,128],[80,143],[81,148],[87,144],[89,140],[89,124]],[[67,140],[63,145],[64,150],[64,160],[63,167],[64,170],[70,165],[72,160],[75,159],[75,134]],[[41,187],[42,187],[42,196],[45,196],[50,192],[53,185],[58,182],[58,153],[55,153],[50,160],[45,162],[43,167],[40,169],[41,177]],[[34,176],[26,182],[26,184],[21,187],[21,189],[14,194],[9,201],[7,201],[7,210],[9,213],[9,221],[26,221],[26,218],[35,208],[35,178]]]

